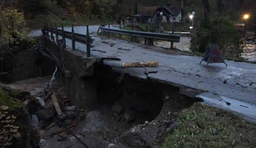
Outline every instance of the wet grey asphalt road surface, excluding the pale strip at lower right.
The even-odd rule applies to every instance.
[[[65,30],[69,31],[71,29],[65,28]],[[86,28],[83,26],[75,28],[75,32],[79,34],[85,35],[85,31]],[[92,49],[106,52],[92,51],[92,56],[98,59],[106,57],[121,58],[121,61],[104,61],[105,64],[113,67],[117,72],[125,72],[142,79],[150,78],[156,81],[164,81],[179,86],[182,91],[184,90],[183,93],[188,95],[190,90],[195,89],[241,100],[249,104],[256,104],[255,64],[226,61],[229,67],[225,67],[225,64],[222,63],[209,66],[206,63],[200,65],[201,57],[183,55],[166,49],[130,43],[120,39],[100,37],[96,35],[97,26],[91,26],[90,32],[92,38],[95,39]],[[67,45],[71,47],[69,39],[67,39]],[[76,48],[86,51],[86,45],[84,44],[76,44]],[[86,56],[86,54],[83,55]],[[149,61],[158,61],[159,67],[121,68],[123,62]],[[158,71],[158,73],[146,76],[145,69],[147,71]],[[226,84],[224,81],[227,81]]]

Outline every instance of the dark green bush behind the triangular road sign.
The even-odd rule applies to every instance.
[[[243,52],[243,41],[235,30],[235,23],[225,16],[213,16],[209,21],[201,21],[197,38],[192,39],[192,51],[205,52],[201,47],[218,44],[220,53],[225,57],[239,58]]]

